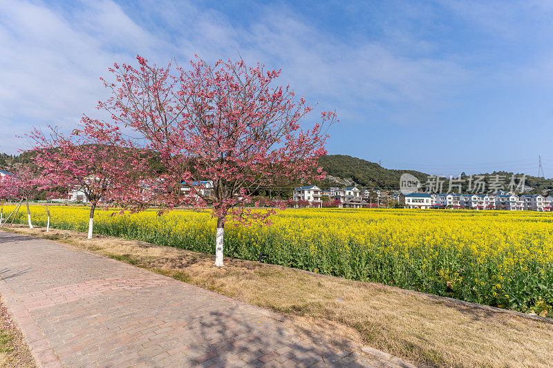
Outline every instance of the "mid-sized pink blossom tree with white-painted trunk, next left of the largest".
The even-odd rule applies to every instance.
[[[82,126],[71,134],[49,126],[47,134],[35,128],[28,137],[35,142],[34,161],[44,175],[41,188],[82,192],[91,204],[88,239],[98,204],[141,206],[140,182],[147,172],[147,156],[131,148],[118,126],[84,117]]]

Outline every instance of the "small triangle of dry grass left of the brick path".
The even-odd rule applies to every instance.
[[[0,367],[35,368],[35,360],[0,300]]]

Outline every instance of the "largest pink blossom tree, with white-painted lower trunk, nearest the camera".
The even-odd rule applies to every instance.
[[[321,113],[319,124],[302,127],[312,107],[290,86],[274,84],[280,70],[260,64],[196,59],[185,70],[137,59],[138,68],[114,64],[114,80],[102,79],[112,95],[98,108],[159,158],[162,174],[149,186],[156,188],[149,191],[152,203],[212,209],[221,267],[225,222],[265,224],[275,212],[254,209],[252,193],[323,177],[317,162],[336,115]]]

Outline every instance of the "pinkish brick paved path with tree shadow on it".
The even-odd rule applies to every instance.
[[[48,240],[0,231],[0,279],[41,367],[411,367],[302,341],[264,309]]]

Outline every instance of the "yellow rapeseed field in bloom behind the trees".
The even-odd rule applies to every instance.
[[[23,208],[23,206],[22,206]],[[13,206],[5,206],[9,213]],[[32,221],[46,224],[44,206]],[[50,206],[51,226],[86,231],[89,209]],[[20,213],[16,222],[26,223]],[[225,255],[553,313],[553,214],[526,211],[287,209],[270,226],[225,229]],[[99,210],[95,233],[214,253],[207,212],[119,215]]]

